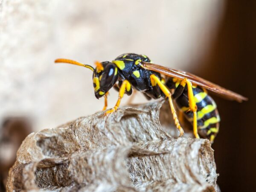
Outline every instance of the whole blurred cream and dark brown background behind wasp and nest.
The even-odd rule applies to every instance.
[[[135,52],[249,98],[213,96],[221,126],[212,148],[221,191],[253,191],[255,13],[255,1],[0,0],[0,190],[27,134],[103,108],[90,70],[54,60],[93,65]],[[113,90],[110,108],[116,99]]]

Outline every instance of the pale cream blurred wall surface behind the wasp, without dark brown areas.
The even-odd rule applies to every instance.
[[[54,64],[59,57],[93,65],[136,52],[176,69],[198,67],[223,5],[205,0],[0,0],[0,121],[28,116],[38,131],[102,108],[91,71]],[[111,91],[110,105],[116,96]]]

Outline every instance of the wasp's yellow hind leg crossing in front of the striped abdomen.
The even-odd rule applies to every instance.
[[[195,104],[195,98],[193,94],[193,89],[192,89],[192,83],[188,79],[183,79],[180,82],[180,85],[185,87],[185,85],[188,86],[188,96],[189,96],[189,111],[193,112],[193,131],[195,138],[200,138],[198,135],[198,128],[197,128],[197,106]]]

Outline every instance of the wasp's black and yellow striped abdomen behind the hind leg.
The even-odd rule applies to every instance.
[[[219,130],[220,116],[217,105],[201,87],[193,87],[193,94],[197,105],[197,124],[198,133],[205,138],[213,141]],[[176,99],[178,108],[184,113],[186,119],[193,123],[193,112],[189,110],[187,88]],[[188,111],[188,112],[187,112]]]

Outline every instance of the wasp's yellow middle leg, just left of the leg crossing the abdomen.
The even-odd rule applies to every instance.
[[[163,93],[166,95],[166,97],[168,97],[169,99],[169,104],[171,107],[171,111],[172,111],[172,116],[175,122],[175,125],[177,127],[177,129],[180,131],[180,136],[182,136],[184,134],[183,128],[180,126],[179,123],[179,119],[177,117],[177,113],[175,111],[173,102],[172,102],[172,93],[168,90],[168,88],[160,81],[160,79],[155,76],[154,74],[152,74],[150,76],[150,80],[151,80],[151,84],[152,86],[156,86],[158,84],[158,86],[160,87],[160,89],[163,91]]]

